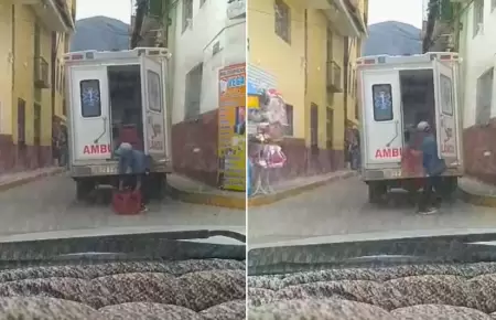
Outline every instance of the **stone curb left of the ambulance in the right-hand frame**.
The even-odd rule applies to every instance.
[[[255,196],[255,198],[250,198],[248,199],[248,207],[252,207],[252,206],[262,206],[262,205],[267,205],[267,204],[271,204],[278,201],[281,201],[283,199],[290,198],[290,196],[294,196],[298,194],[301,194],[303,192],[316,189],[319,186],[323,186],[327,183],[331,182],[335,182],[338,180],[345,180],[345,179],[349,179],[353,177],[358,175],[357,172],[354,171],[349,171],[343,174],[338,174],[338,175],[334,175],[328,179],[322,180],[322,181],[316,181],[310,184],[305,184],[305,185],[301,185],[301,186],[296,186],[293,189],[289,189],[282,192],[278,192],[274,194],[267,194],[267,195],[261,195],[261,196]]]

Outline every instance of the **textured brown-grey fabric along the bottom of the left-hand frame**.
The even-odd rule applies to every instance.
[[[245,285],[245,263],[220,259],[8,269],[0,320],[241,320]]]

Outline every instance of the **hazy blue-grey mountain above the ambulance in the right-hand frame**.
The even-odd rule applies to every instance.
[[[420,29],[398,21],[386,21],[368,26],[364,55],[419,53],[422,53]]]

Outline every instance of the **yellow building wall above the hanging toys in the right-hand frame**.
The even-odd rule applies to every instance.
[[[305,60],[304,8],[298,0],[284,1],[291,8],[291,44],[274,30],[273,1],[248,1],[249,61],[276,76],[278,90],[293,106],[293,137],[310,145],[310,106],[319,106],[319,147],[326,148],[326,108],[334,110],[333,148],[343,149],[344,99],[335,94],[328,105],[326,88],[326,17],[320,10],[308,10],[308,51]],[[343,68],[344,40],[334,35],[334,60]],[[305,93],[306,61],[306,93]]]

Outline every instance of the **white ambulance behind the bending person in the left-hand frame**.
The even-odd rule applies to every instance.
[[[71,52],[66,70],[69,172],[77,198],[117,183],[117,149],[123,135],[152,159],[150,183],[161,194],[172,172],[166,121],[166,49]],[[126,134],[125,134],[126,132]]]

